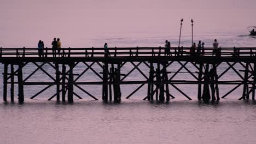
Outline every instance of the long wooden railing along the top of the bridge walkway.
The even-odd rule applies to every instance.
[[[218,56],[218,57],[253,57],[256,47],[220,47],[213,52],[213,48],[206,47],[200,52],[190,47],[110,47],[104,48],[61,48],[56,52],[51,48],[44,48],[42,57],[161,57],[161,56]],[[37,48],[0,48],[0,57],[39,57]]]

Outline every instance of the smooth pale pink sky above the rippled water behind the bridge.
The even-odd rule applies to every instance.
[[[52,35],[75,37],[115,32],[236,31],[256,26],[255,0],[1,0],[0,43]],[[22,37],[22,38],[21,38]],[[24,38],[25,37],[25,38]]]

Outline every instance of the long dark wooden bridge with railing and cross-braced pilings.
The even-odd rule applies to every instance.
[[[56,54],[56,57],[54,56]],[[108,48],[108,52],[104,52],[103,48],[65,48],[60,52],[53,52],[52,49],[45,48],[42,56],[38,56],[38,49],[32,48],[0,48],[0,62],[4,64],[3,73],[3,100],[7,101],[8,85],[10,85],[10,100],[14,101],[14,85],[18,85],[18,99],[20,103],[24,102],[24,85],[44,85],[41,91],[32,95],[31,99],[46,91],[46,89],[56,86],[56,93],[50,95],[48,100],[56,97],[56,100],[67,100],[72,103],[73,96],[80,97],[74,92],[77,87],[91,98],[98,100],[95,95],[82,88],[82,85],[102,85],[102,99],[104,101],[121,100],[120,85],[139,85],[133,89],[126,98],[130,98],[144,85],[147,85],[147,97],[144,100],[161,100],[169,101],[175,98],[170,92],[169,87],[173,87],[184,97],[191,99],[185,94],[178,85],[197,85],[197,98],[208,101],[219,100],[219,85],[234,85],[228,93],[222,95],[225,98],[236,88],[243,86],[243,94],[240,99],[249,99],[255,96],[256,79],[256,48],[254,47],[230,47],[219,48],[214,53],[212,48],[205,48],[204,52],[196,53],[190,51],[189,47],[172,47],[170,52],[164,47],[113,47]],[[167,68],[172,67],[173,62],[177,62],[180,68],[176,71],[168,71]],[[24,67],[33,63],[35,70],[31,70],[31,74],[24,77],[22,71]],[[82,63],[85,68],[82,73],[76,74],[74,68]],[[133,65],[133,68],[126,74],[121,74],[121,69],[127,63]],[[222,64],[227,64],[225,70],[217,74],[218,68]],[[55,75],[50,75],[43,65],[49,65],[52,70],[56,71]],[[139,68],[140,64],[146,65],[148,73],[143,73]],[[187,65],[193,65],[195,71],[191,71]],[[235,69],[234,65],[238,64],[242,69]],[[16,65],[14,67],[14,65]],[[92,66],[98,65],[101,71],[95,70]],[[210,65],[212,69],[210,69]],[[38,70],[42,70],[44,74],[50,77],[51,81],[28,82]],[[127,68],[126,68],[127,69]],[[101,81],[79,82],[86,71],[91,70]],[[126,80],[132,71],[138,70],[141,77],[137,76],[137,80]],[[182,71],[182,70],[185,70]],[[219,81],[228,70],[234,71],[234,75],[240,77],[240,80]],[[29,70],[26,70],[29,71]],[[240,73],[239,73],[240,71]],[[75,73],[74,73],[75,72]],[[172,76],[168,74],[172,73]],[[175,80],[178,73],[187,73],[194,80]],[[241,74],[244,73],[244,74]],[[15,81],[15,76],[17,81]],[[74,77],[75,76],[75,77]],[[144,79],[144,80],[143,80]],[[211,91],[210,91],[211,89]],[[61,95],[60,95],[61,94]]]

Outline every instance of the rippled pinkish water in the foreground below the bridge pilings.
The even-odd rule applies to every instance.
[[[1,143],[255,143],[255,101],[26,100],[0,105]]]

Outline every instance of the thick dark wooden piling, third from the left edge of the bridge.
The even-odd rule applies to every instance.
[[[23,86],[23,75],[22,75],[22,63],[19,64],[18,68],[18,84],[19,84],[19,103],[24,102],[24,86]]]

